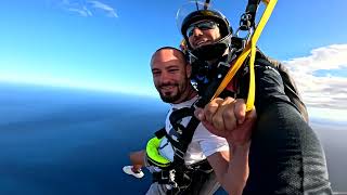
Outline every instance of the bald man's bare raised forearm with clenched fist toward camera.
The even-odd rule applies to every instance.
[[[249,172],[248,152],[255,109],[246,114],[244,101],[218,99],[196,115],[211,133],[227,139],[229,152],[215,153],[207,160],[229,194],[242,194]]]

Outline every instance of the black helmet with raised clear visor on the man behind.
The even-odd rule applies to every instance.
[[[178,27],[184,37],[188,51],[195,57],[204,61],[220,57],[224,53],[226,49],[230,47],[232,36],[232,28],[230,27],[227,17],[217,10],[211,10],[210,8],[207,9],[203,2],[193,1],[188,5],[193,8],[193,11],[187,13],[187,10],[184,10],[187,8],[181,8],[177,13]],[[203,20],[210,20],[218,24],[221,39],[213,44],[202,46],[193,49],[189,42],[187,29],[193,23]]]

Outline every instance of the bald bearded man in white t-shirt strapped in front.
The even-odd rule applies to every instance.
[[[149,167],[153,172],[149,195],[170,193],[209,195],[220,186],[219,183],[227,184],[226,181],[228,181],[228,185],[223,185],[226,191],[230,194],[241,194],[248,173],[249,142],[245,139],[245,142],[235,144],[232,150],[229,150],[226,139],[210,133],[201,123],[196,129],[187,129],[193,113],[182,117],[178,121],[179,126],[172,123],[171,117],[177,112],[191,108],[198,100],[197,92],[190,82],[191,65],[185,61],[182,51],[169,47],[158,49],[152,56],[151,69],[154,86],[162,100],[171,105],[165,121],[165,136],[160,138],[156,152],[168,159],[170,166],[163,168],[153,165],[149,151],[146,155],[143,151],[130,154],[133,166],[127,166],[125,172],[137,176],[133,172],[139,171],[139,167],[142,165]],[[255,115],[249,117],[249,120],[250,122],[245,123],[253,123]],[[252,127],[244,126],[240,129],[250,133]],[[181,144],[183,144],[181,141],[185,141],[187,136],[183,134],[187,131],[194,131],[194,133],[183,154],[181,165],[177,162],[176,157],[180,156]],[[137,170],[133,169],[134,167]]]

